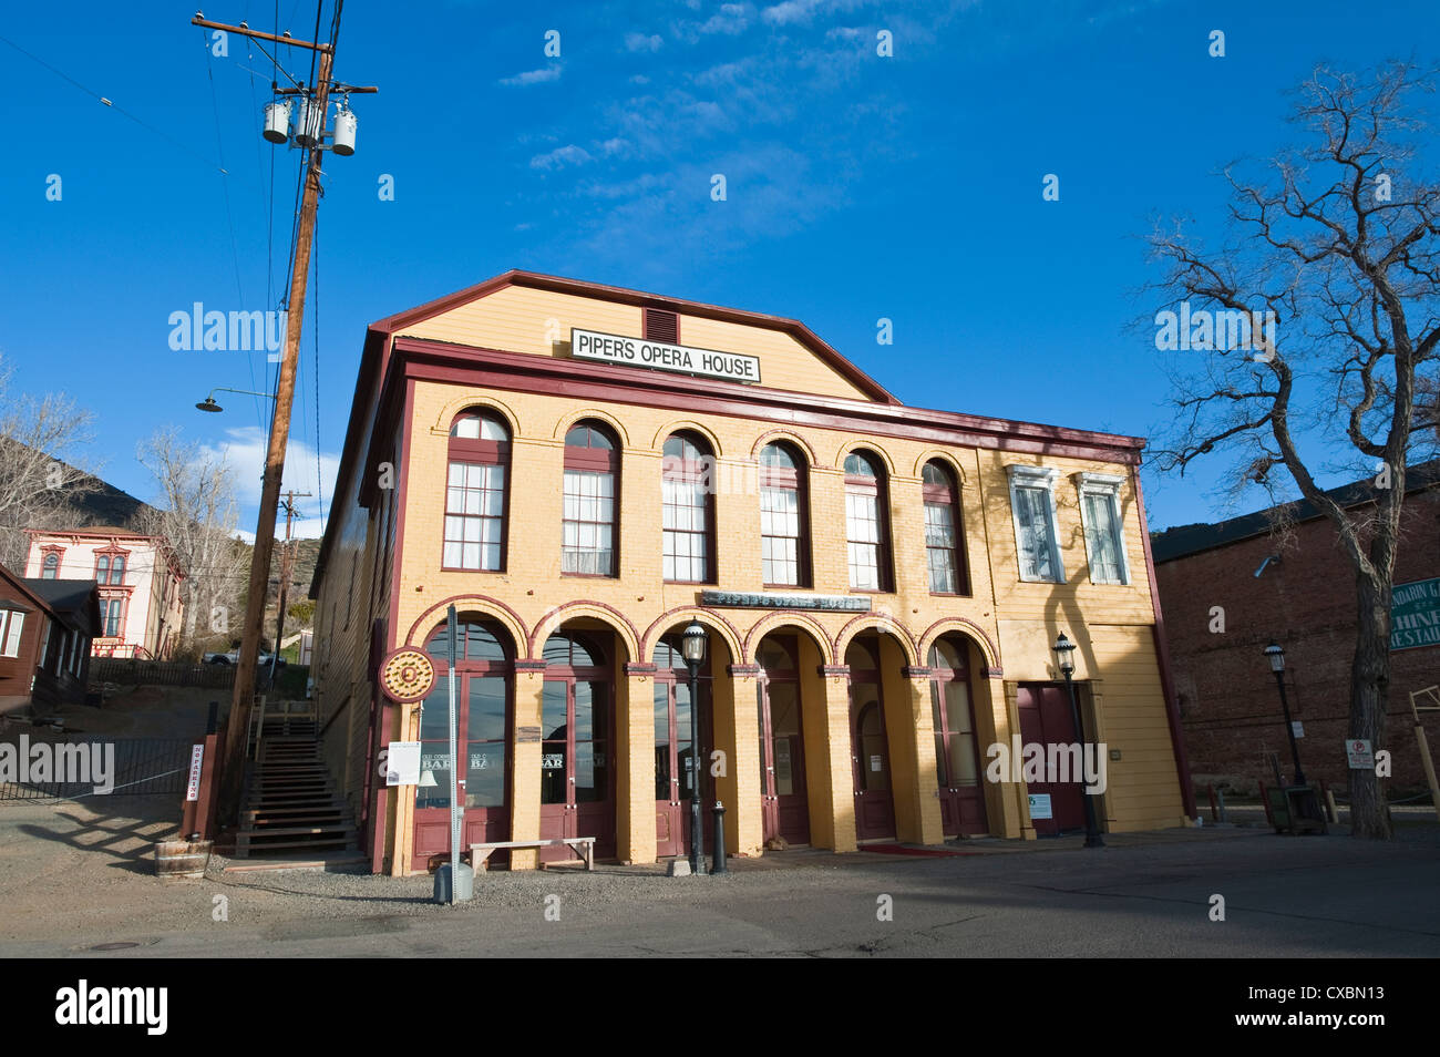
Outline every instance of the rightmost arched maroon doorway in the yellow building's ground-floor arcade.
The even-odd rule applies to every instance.
[[[942,832],[946,837],[988,834],[965,639],[959,635],[937,638],[930,647],[929,668]]]

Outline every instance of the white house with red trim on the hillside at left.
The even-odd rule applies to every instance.
[[[99,585],[101,626],[91,645],[94,657],[170,658],[183,628],[184,573],[163,536],[107,526],[29,531],[26,576]]]

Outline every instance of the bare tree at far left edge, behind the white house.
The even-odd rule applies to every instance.
[[[63,528],[94,478],[72,465],[89,441],[92,415],[63,393],[12,393],[0,354],[0,565],[24,573],[26,528]]]

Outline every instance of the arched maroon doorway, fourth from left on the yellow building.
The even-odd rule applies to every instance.
[[[805,733],[801,726],[799,641],[772,632],[756,651],[760,709],[762,837],[809,844]]]

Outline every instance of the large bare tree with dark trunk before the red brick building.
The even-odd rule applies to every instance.
[[[1417,92],[1433,89],[1434,73],[1407,63],[1362,75],[1318,68],[1293,114],[1308,145],[1251,181],[1227,170],[1225,245],[1207,251],[1179,225],[1151,236],[1169,307],[1191,320],[1198,310],[1212,327],[1171,357],[1179,413],[1158,462],[1184,472],[1225,452],[1231,481],[1261,484],[1272,498],[1270,471],[1283,467],[1331,520],[1355,575],[1348,737],[1377,749],[1405,468],[1433,441],[1424,395],[1436,392],[1440,343],[1440,187],[1416,171],[1410,145],[1424,127]],[[1217,320],[1250,341],[1217,343]],[[1315,472],[1342,467],[1374,475],[1372,505],[1346,510],[1320,490]],[[1380,779],[1349,773],[1352,834],[1390,837]]]

